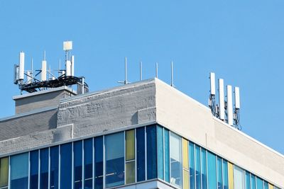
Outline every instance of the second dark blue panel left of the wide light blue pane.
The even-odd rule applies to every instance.
[[[92,188],[93,178],[93,139],[84,140],[84,189]]]

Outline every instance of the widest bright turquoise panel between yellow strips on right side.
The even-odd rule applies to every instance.
[[[208,188],[217,188],[217,176],[216,176],[216,156],[211,152],[207,152],[207,166],[208,166]]]

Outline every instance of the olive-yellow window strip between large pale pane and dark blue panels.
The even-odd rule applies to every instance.
[[[126,131],[126,184],[135,183],[135,130]]]

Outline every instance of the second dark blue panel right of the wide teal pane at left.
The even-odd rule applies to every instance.
[[[48,189],[48,148],[40,149],[40,189]]]

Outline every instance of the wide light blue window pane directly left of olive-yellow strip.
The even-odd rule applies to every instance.
[[[124,132],[105,137],[106,187],[124,185]]]

